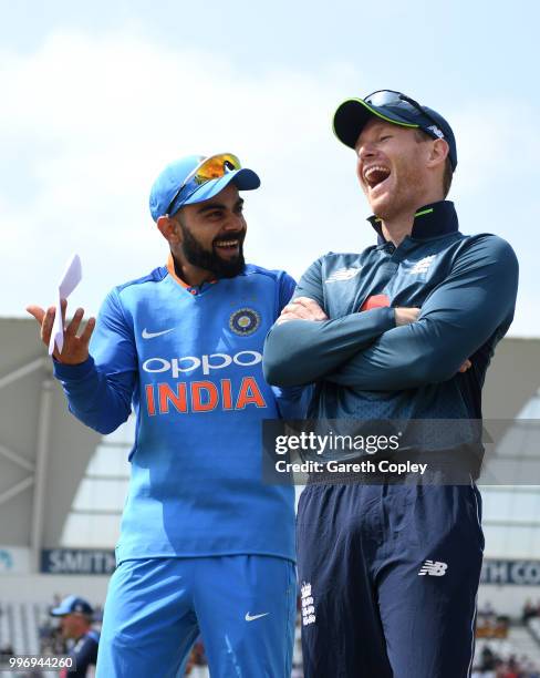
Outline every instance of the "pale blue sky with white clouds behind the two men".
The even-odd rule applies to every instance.
[[[354,155],[330,121],[343,99],[391,88],[451,123],[461,229],[512,244],[511,333],[540,336],[540,17],[532,1],[496,7],[0,1],[0,314],[52,302],[72,251],[73,301],[91,312],[162,264],[147,194],[188,153],[232,151],[261,175],[245,196],[250,260],[299,276],[370,245]]]

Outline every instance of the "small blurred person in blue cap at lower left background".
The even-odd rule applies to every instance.
[[[100,635],[92,629],[94,609],[84,598],[68,596],[50,614],[60,617],[62,636],[74,643],[69,654],[75,668],[63,669],[60,678],[85,678],[89,667],[95,666],[97,660]]]

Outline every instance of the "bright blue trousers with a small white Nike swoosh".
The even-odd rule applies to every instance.
[[[212,678],[289,678],[294,564],[259,555],[124,561],[107,593],[98,678],[177,678],[200,634]]]

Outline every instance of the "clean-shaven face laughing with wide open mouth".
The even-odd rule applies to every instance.
[[[356,173],[374,214],[391,220],[425,204],[426,144],[414,130],[374,117],[355,150]]]

